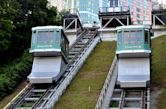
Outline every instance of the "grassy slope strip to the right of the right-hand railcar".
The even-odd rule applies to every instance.
[[[166,35],[152,40],[152,86],[162,90],[157,108],[166,109]]]

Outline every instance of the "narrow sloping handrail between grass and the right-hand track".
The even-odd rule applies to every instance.
[[[103,103],[103,101],[104,101],[104,97],[105,97],[105,95],[106,95],[106,92],[107,92],[109,83],[110,83],[110,81],[111,81],[111,77],[112,77],[112,75],[113,75],[113,71],[114,71],[115,66],[116,66],[116,62],[117,62],[117,57],[115,56],[115,57],[114,57],[114,60],[113,60],[113,62],[112,62],[111,68],[110,68],[110,70],[109,70],[109,73],[108,73],[108,75],[107,75],[107,77],[106,77],[105,83],[104,83],[103,88],[102,88],[102,91],[101,91],[101,93],[100,93],[100,96],[99,96],[99,98],[98,98],[98,101],[97,101],[97,104],[96,104],[95,109],[101,109],[102,103]]]

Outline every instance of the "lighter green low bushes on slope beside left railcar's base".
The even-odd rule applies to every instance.
[[[21,58],[0,67],[0,100],[10,94],[31,68],[32,57],[26,51]]]

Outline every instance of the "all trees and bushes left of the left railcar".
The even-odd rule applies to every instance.
[[[60,24],[48,0],[0,0],[0,100],[30,72],[32,57],[24,51],[30,47],[31,28]]]

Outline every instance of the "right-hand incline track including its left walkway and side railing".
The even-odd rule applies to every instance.
[[[115,57],[95,109],[150,109],[150,87],[120,88],[117,70]]]

